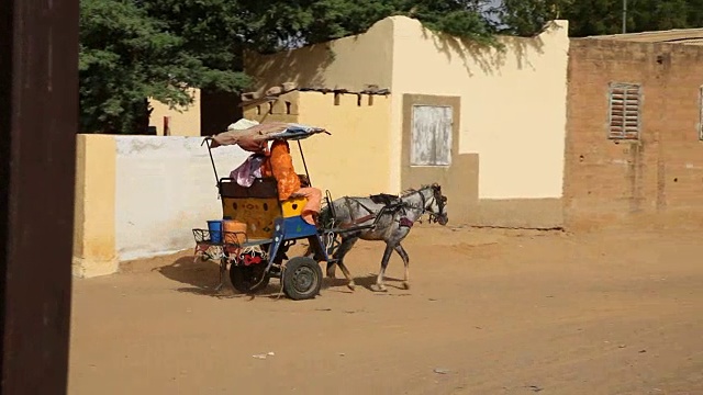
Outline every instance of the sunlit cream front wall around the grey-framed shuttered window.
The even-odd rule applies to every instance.
[[[480,199],[561,198],[569,38],[556,21],[505,52],[437,35],[393,16],[389,166],[400,168],[404,94],[459,97],[458,154],[478,154]],[[395,173],[395,177],[399,177]],[[400,185],[399,178],[392,179]]]

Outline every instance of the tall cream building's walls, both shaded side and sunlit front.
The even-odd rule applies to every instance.
[[[357,36],[274,55],[248,54],[245,70],[259,92],[287,81],[352,91],[370,83],[390,88],[390,127],[378,128],[375,140],[384,139],[391,192],[401,189],[403,97],[425,94],[460,98],[454,154],[478,155],[480,199],[561,198],[568,22],[549,22],[535,37],[499,41],[503,50],[482,48],[433,33],[417,20],[391,16]],[[308,121],[311,113],[302,100],[299,122],[316,121]]]

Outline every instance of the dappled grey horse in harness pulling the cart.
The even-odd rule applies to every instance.
[[[400,196],[377,194],[368,198],[344,196],[335,200],[332,202],[332,207],[325,206],[320,213],[320,223],[324,227],[353,228],[371,224],[376,226],[341,234],[339,247],[332,257],[334,260],[327,263],[327,276],[335,276],[335,268],[338,264],[349,281],[349,289],[354,290],[354,279],[344,263],[344,257],[359,239],[382,240],[386,241],[386,251],[376,284],[371,289],[386,291],[383,275],[394,250],[405,266],[403,286],[409,290],[410,258],[401,246],[401,241],[408,236],[413,224],[425,213],[429,214],[431,222],[446,225],[448,222],[446,205],[447,198],[442,194],[442,188],[437,183],[423,185],[419,190],[404,191]]]

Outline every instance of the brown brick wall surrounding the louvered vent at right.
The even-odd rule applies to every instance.
[[[643,87],[637,142],[607,139],[610,82]],[[703,227],[701,86],[703,46],[572,40],[567,227]]]

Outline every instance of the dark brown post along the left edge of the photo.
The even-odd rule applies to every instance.
[[[66,394],[78,0],[0,5],[3,395]]]

